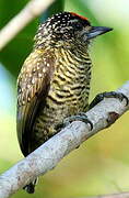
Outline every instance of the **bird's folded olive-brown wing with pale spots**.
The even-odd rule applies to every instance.
[[[39,108],[45,103],[52,78],[55,57],[50,52],[33,52],[25,61],[17,79],[17,139],[23,154],[28,154],[32,127]]]

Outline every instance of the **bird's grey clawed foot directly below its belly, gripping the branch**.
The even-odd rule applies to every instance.
[[[91,130],[93,129],[93,123],[87,119],[87,116],[84,112],[80,112],[77,116],[71,116],[69,118],[66,118],[62,123],[59,123],[56,125],[56,130],[59,130],[61,128],[66,128],[73,121],[82,121],[86,124],[90,124]]]

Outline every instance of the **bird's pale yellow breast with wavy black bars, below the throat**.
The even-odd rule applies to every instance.
[[[64,108],[66,114],[84,111],[90,92],[90,57],[75,57],[62,50],[58,53],[56,64],[47,97],[48,106],[55,107],[57,111]]]

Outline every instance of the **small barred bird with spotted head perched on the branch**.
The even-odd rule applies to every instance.
[[[33,51],[17,77],[16,131],[24,156],[58,133],[57,127],[66,118],[87,110],[90,44],[112,30],[93,26],[87,18],[67,11],[38,26]],[[35,183],[24,189],[33,194]]]

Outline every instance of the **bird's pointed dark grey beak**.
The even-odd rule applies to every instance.
[[[106,32],[109,32],[112,30],[113,30],[112,28],[107,28],[107,26],[92,26],[92,29],[87,33],[87,40],[94,38],[101,34],[105,34]]]

